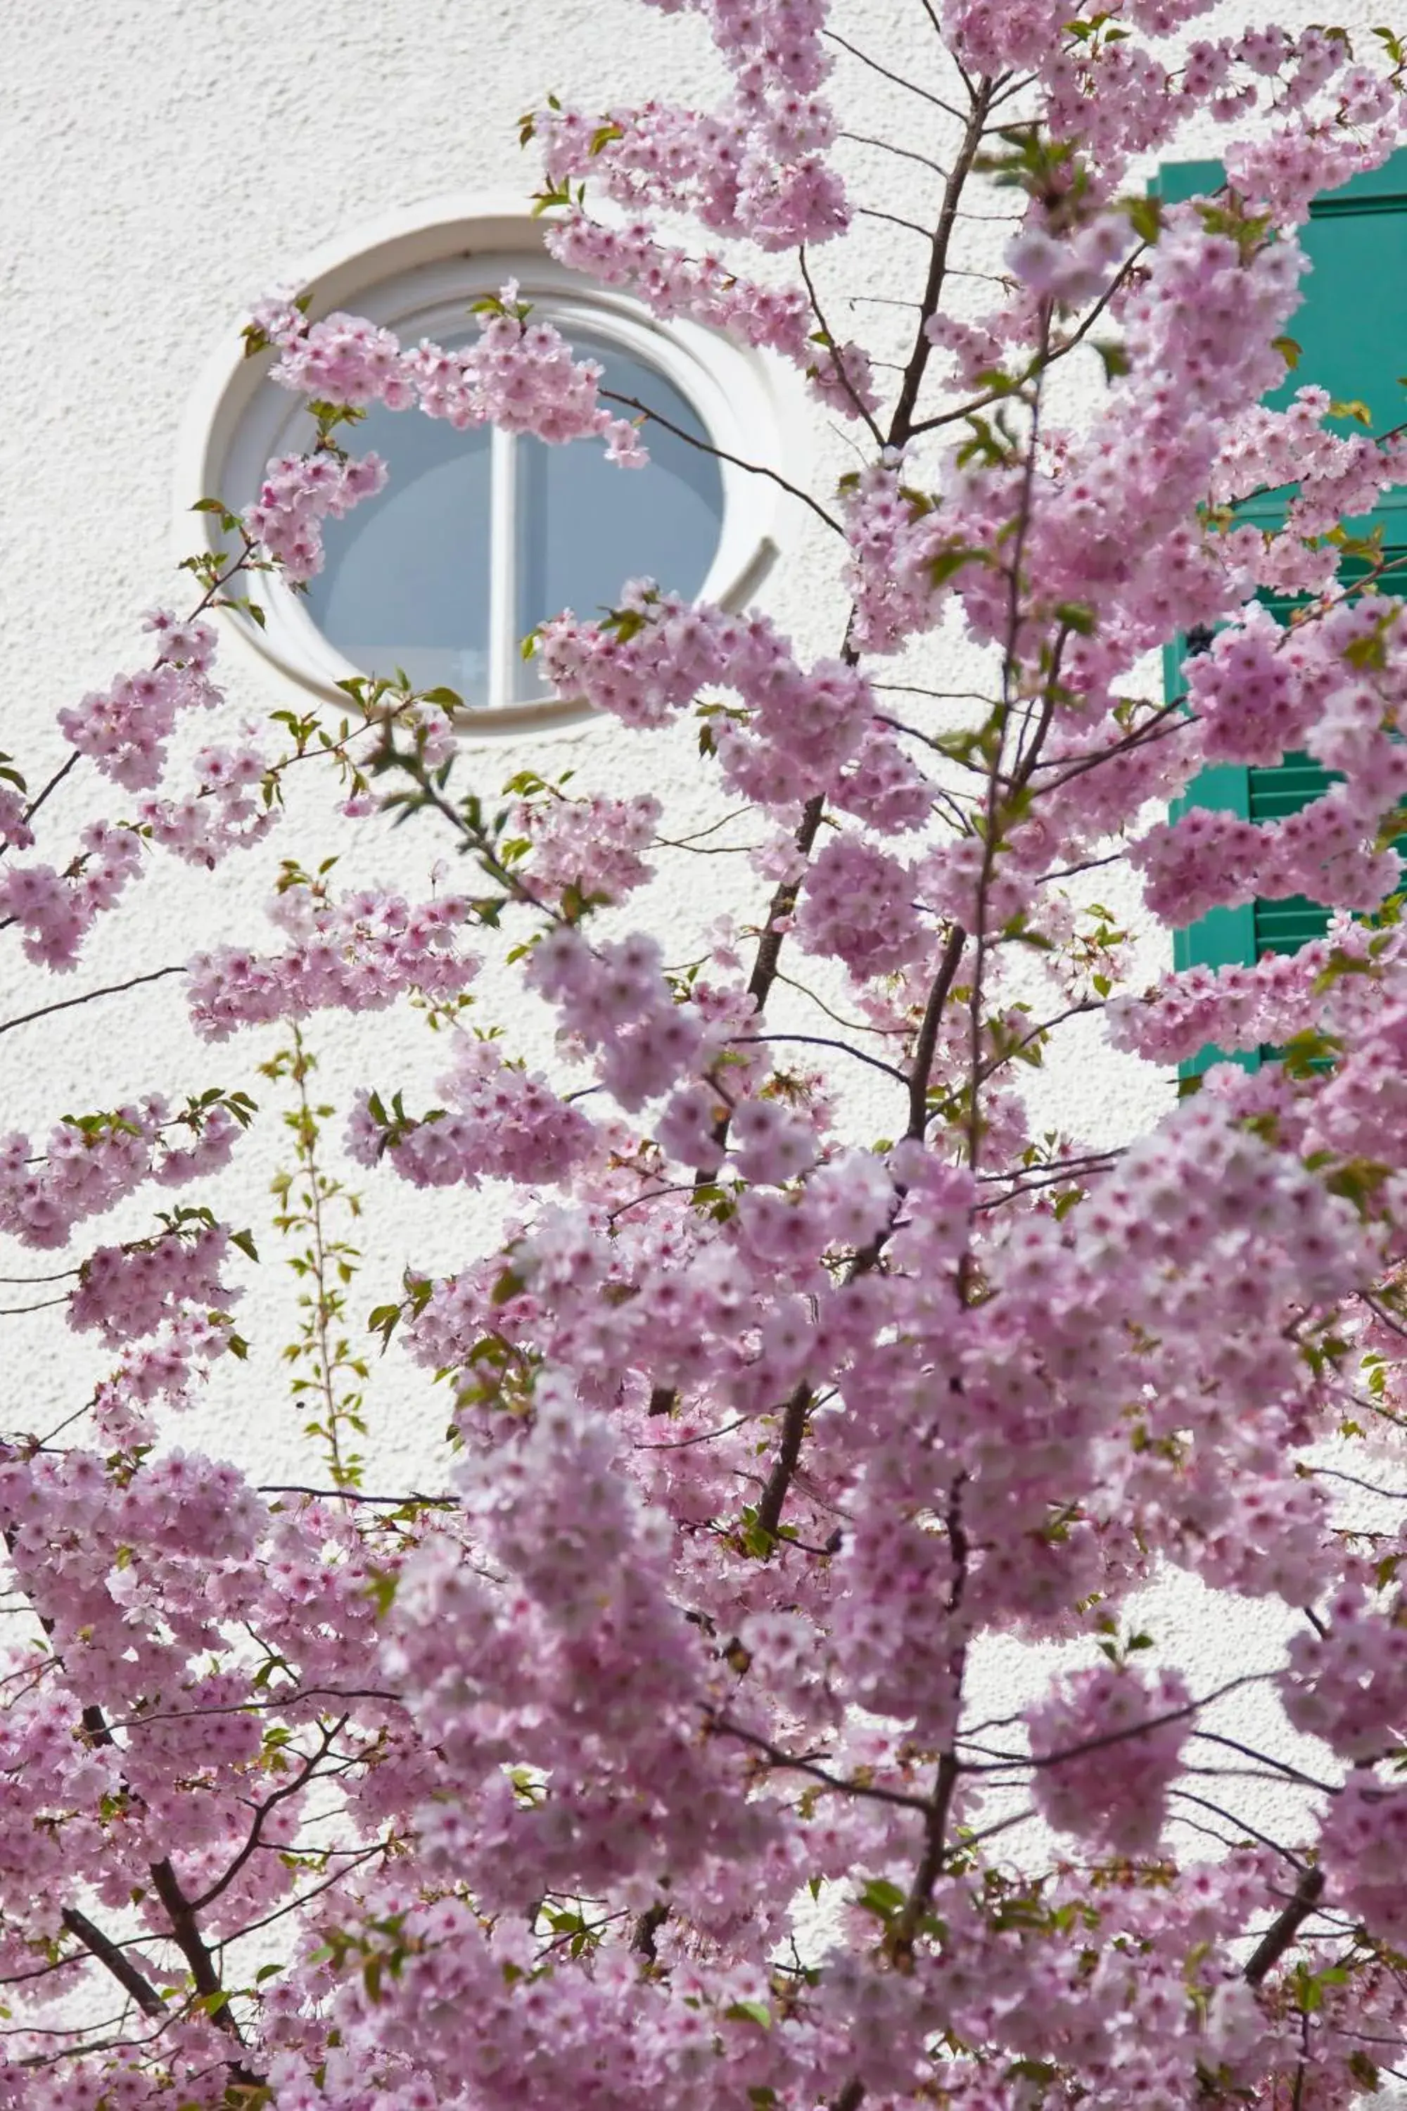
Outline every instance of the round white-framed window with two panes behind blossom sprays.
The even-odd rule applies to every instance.
[[[637,302],[555,266],[538,222],[477,213],[359,247],[310,274],[310,312],[350,308],[403,344],[458,346],[475,336],[473,300],[506,279],[578,357],[601,365],[612,410],[635,416],[610,397],[658,414],[643,420],[650,462],[618,469],[597,441],[546,445],[373,405],[348,445],[386,460],[386,488],[325,524],[325,564],[306,593],[264,576],[264,627],[240,621],[308,686],[338,695],[350,673],[403,671],[416,688],[458,690],[485,730],[576,718],[580,707],[548,697],[523,659],[538,623],[561,608],[612,608],[624,581],[641,576],[736,606],[770,562],[770,486],[740,467],[776,454],[762,361],[694,325],[664,329]],[[264,464],[308,443],[306,407],[266,378],[268,365],[226,363],[215,412],[209,391],[196,407],[184,507],[219,496],[240,511]]]

